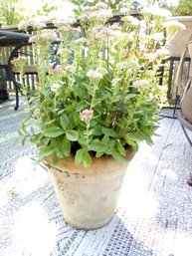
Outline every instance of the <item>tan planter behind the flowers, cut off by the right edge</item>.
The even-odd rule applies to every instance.
[[[180,57],[186,43],[192,35],[192,16],[175,16],[171,17],[169,20],[177,20],[186,27],[185,30],[178,32],[170,42],[170,56]]]

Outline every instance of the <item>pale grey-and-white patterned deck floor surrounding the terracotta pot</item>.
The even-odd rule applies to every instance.
[[[0,105],[0,256],[191,256],[192,148],[162,119],[154,145],[128,166],[112,221],[95,231],[65,223],[48,172],[17,136],[25,106]]]

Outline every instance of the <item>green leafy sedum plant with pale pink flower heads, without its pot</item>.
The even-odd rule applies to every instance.
[[[139,19],[126,14],[118,23],[108,22],[111,17],[110,9],[97,3],[78,22],[53,21],[57,31],[43,23],[20,24],[33,28],[29,42],[39,83],[34,95],[26,95],[29,117],[19,132],[36,143],[40,160],[75,157],[89,167],[93,157],[120,161],[140,141],[152,144],[160,69],[168,54],[167,12],[145,8]],[[13,64],[22,76],[22,56]]]

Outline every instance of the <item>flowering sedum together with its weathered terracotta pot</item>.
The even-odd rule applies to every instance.
[[[157,128],[166,15],[149,9],[141,15],[110,24],[111,11],[97,3],[79,17],[78,27],[70,19],[55,23],[60,47],[54,66],[50,46],[58,34],[42,23],[20,24],[33,27],[39,83],[35,95],[26,95],[29,117],[19,132],[36,143],[64,218],[77,228],[110,221],[128,160],[140,141],[152,144]],[[13,64],[22,76],[25,59]]]

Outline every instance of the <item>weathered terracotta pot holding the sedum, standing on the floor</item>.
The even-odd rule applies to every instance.
[[[65,221],[78,229],[96,229],[113,217],[129,151],[122,163],[110,157],[94,158],[91,168],[59,160],[56,165],[47,158],[51,178]]]

